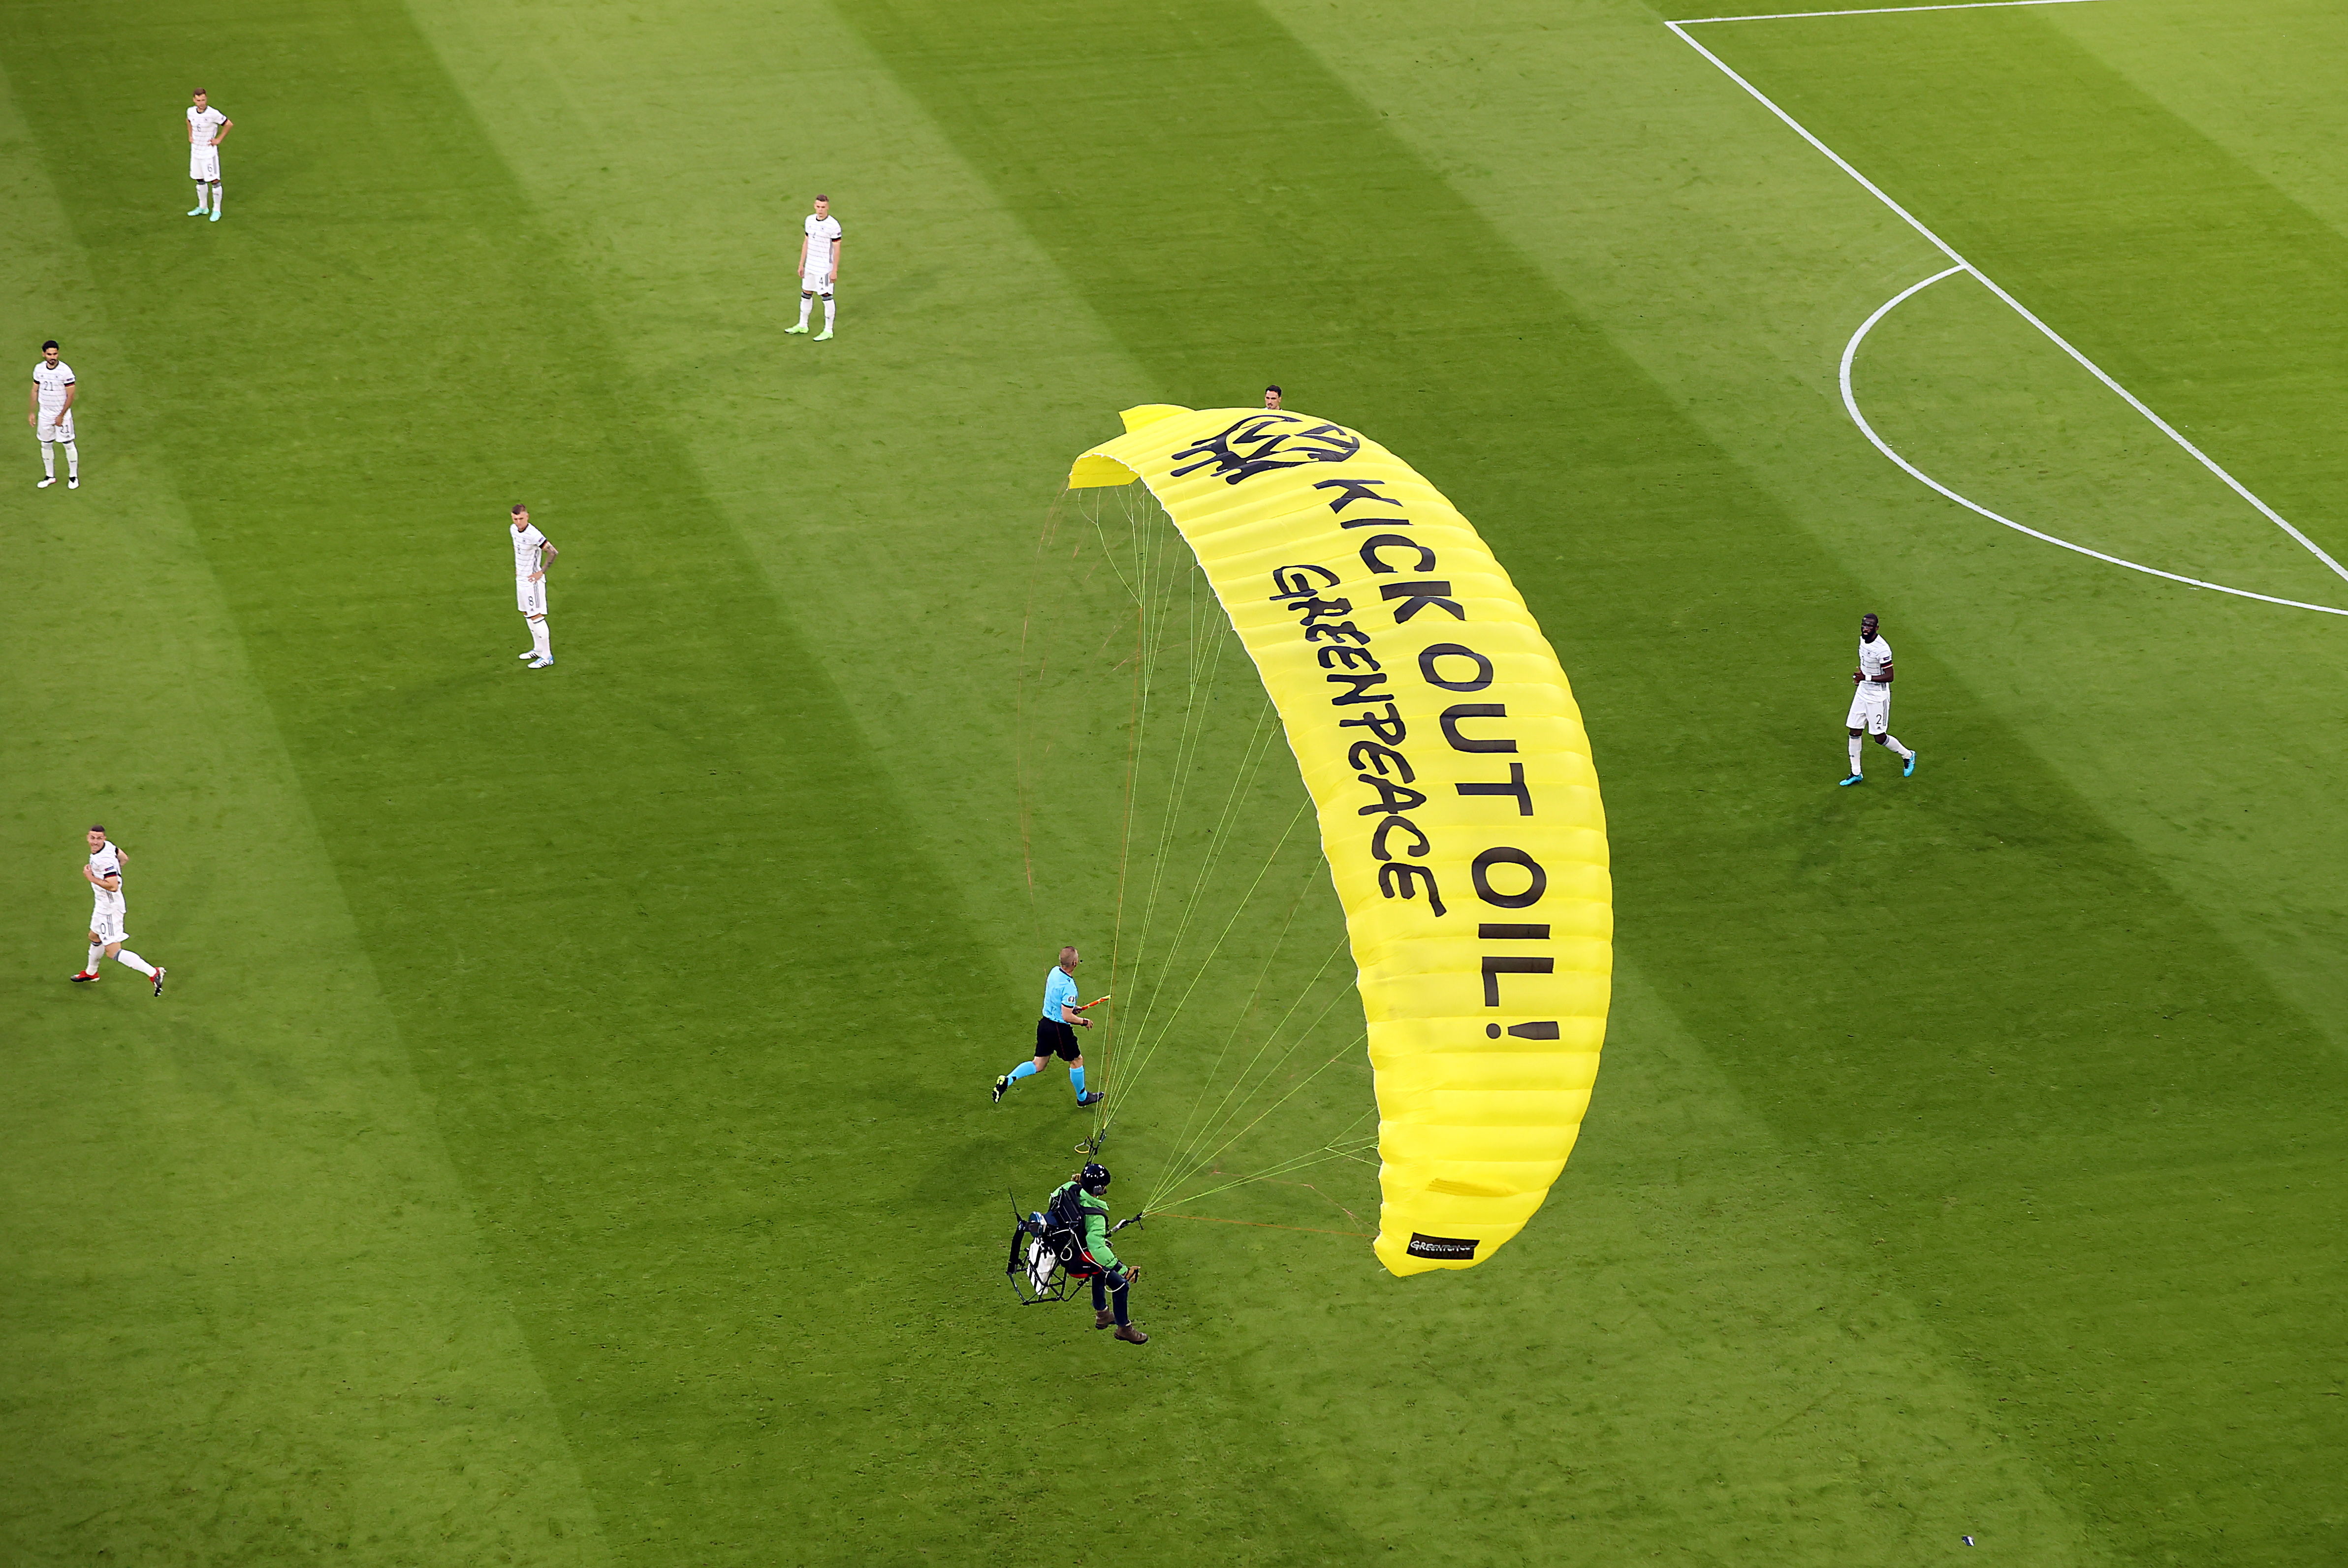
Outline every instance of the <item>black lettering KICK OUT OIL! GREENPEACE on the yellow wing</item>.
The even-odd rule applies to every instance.
[[[1355,768],[1355,777],[1362,784],[1359,815],[1378,819],[1369,836],[1369,854],[1378,864],[1378,890],[1388,899],[1416,899],[1425,894],[1428,906],[1437,915],[1446,915],[1449,906],[1444,904],[1444,890],[1435,871],[1413,864],[1428,859],[1435,850],[1432,836],[1411,815],[1428,803],[1425,791],[1418,789],[1425,756],[1421,751],[1421,763],[1411,761],[1411,725],[1397,702],[1395,671],[1378,657],[1378,631],[1409,624],[1418,615],[1465,622],[1468,608],[1453,596],[1449,580],[1432,575],[1442,570],[1437,552],[1402,533],[1411,528],[1409,516],[1383,512],[1345,516],[1345,509],[1357,502],[1397,507],[1399,502],[1378,493],[1383,484],[1383,479],[1322,479],[1313,486],[1317,491],[1336,491],[1329,498],[1329,509],[1338,514],[1338,528],[1367,530],[1355,545],[1355,554],[1364,570],[1362,589],[1371,584],[1378,589],[1376,603],[1364,599],[1364,610],[1355,610],[1355,599],[1341,594],[1345,575],[1317,563],[1273,568],[1270,599],[1296,615],[1298,634],[1313,648],[1315,662],[1327,671],[1324,681],[1336,688],[1329,692],[1329,721],[1338,730],[1359,730],[1357,737],[1341,735],[1338,742],[1345,746],[1345,761]],[[1378,577],[1404,580],[1376,582]],[[1355,594],[1362,589],[1355,589]],[[1385,610],[1383,624],[1376,622],[1374,610]],[[1364,629],[1364,620],[1371,620],[1371,627]],[[1470,634],[1460,631],[1460,636]],[[1465,641],[1430,643],[1416,657],[1416,674],[1430,688],[1472,697],[1493,683],[1493,662]],[[1493,732],[1491,721],[1505,718],[1507,704],[1503,702],[1453,702],[1437,714],[1435,728],[1451,751],[1496,756],[1517,751],[1512,737]],[[1472,730],[1463,728],[1470,723],[1475,725]],[[1423,735],[1418,739],[1421,744],[1425,742]],[[1507,798],[1514,805],[1514,815],[1533,815],[1533,791],[1526,784],[1524,763],[1507,763],[1507,779],[1472,779],[1451,789],[1470,798]],[[1507,871],[1496,880],[1493,873],[1500,869]],[[1512,845],[1479,850],[1470,861],[1470,880],[1479,899],[1500,908],[1529,908],[1538,904],[1550,883],[1540,864]],[[1519,880],[1522,887],[1517,885]],[[1456,890],[1453,897],[1458,897]],[[1519,925],[1489,927],[1484,934],[1500,937],[1505,932],[1507,937],[1524,939],[1533,930],[1540,932],[1540,939],[1547,939],[1547,927]],[[1500,974],[1547,972],[1552,972],[1547,958],[1486,958],[1486,1007],[1500,1005]],[[1493,1033],[1498,1035],[1498,1028]]]

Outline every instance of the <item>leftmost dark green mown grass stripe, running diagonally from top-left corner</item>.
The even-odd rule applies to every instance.
[[[160,244],[181,21],[122,16],[103,63],[66,9],[0,26],[122,333],[204,366],[146,387],[160,439],[613,1540],[960,1540],[1035,1422],[899,1437],[890,1378],[986,1282],[927,1251],[970,1204],[904,1117],[939,1091],[857,1061],[880,998],[913,1038],[970,1009],[970,946],[657,364],[606,354],[397,7],[211,16],[242,174]],[[514,498],[566,547],[535,678]]]

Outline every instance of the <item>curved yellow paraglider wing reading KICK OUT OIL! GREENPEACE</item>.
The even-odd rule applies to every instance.
[[[1564,1169],[1606,1035],[1606,815],[1557,653],[1475,526],[1355,430],[1129,408],[1068,486],[1134,479],[1313,793],[1369,1021],[1376,1253],[1475,1268]]]

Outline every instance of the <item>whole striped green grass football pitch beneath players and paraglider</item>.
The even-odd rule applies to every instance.
[[[2336,5],[1691,35],[2348,554]],[[0,500],[0,1561],[2348,1561],[2348,627],[1878,455],[1836,359],[1949,263],[1662,12],[16,0],[0,73],[87,477]],[[1118,408],[1266,380],[1557,643],[1615,1014],[1489,1268],[1233,1197],[1301,1230],[1151,1225],[1129,1347],[998,1277],[1085,1122],[986,1082],[1101,941],[1021,620]],[[2348,603],[1968,277],[1855,390]],[[1860,610],[1923,768],[1834,789]],[[63,984],[94,819],[160,1002]]]

